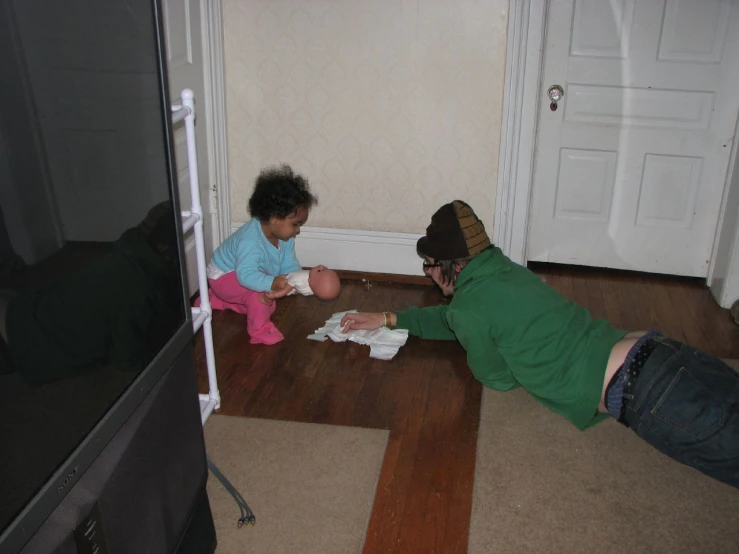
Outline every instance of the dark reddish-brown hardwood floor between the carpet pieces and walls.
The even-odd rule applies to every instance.
[[[547,265],[533,270],[618,327],[658,328],[718,356],[739,358],[739,326],[694,280]],[[332,302],[280,301],[273,321],[286,339],[274,346],[249,344],[244,316],[217,312],[220,413],[389,429],[365,554],[461,554],[467,551],[481,398],[461,347],[410,337],[393,360],[378,361],[366,346],[305,338],[334,312],[446,301],[435,287],[386,279],[345,279]],[[196,353],[206,391],[201,336]]]

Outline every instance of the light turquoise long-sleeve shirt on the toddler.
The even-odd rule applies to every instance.
[[[295,239],[278,241],[275,247],[262,231],[258,219],[242,225],[213,253],[213,264],[223,271],[236,272],[236,279],[247,289],[267,292],[278,275],[302,269],[295,255]]]

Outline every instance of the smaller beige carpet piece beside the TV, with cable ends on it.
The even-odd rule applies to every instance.
[[[238,506],[211,473],[217,554],[362,551],[387,431],[219,415],[204,431],[257,518],[238,529]]]

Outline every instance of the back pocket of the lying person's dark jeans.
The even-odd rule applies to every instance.
[[[709,383],[686,367],[680,368],[651,410],[654,417],[697,440],[721,429],[727,412],[724,399],[714,394]],[[674,436],[673,440],[678,444],[683,442],[679,436]]]

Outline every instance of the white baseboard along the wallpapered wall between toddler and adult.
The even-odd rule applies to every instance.
[[[231,232],[242,223],[232,222]],[[422,235],[303,227],[295,251],[303,267],[423,276],[416,242]]]

